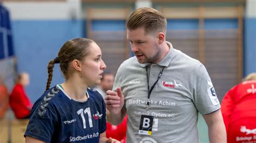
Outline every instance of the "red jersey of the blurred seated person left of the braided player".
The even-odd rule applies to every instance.
[[[15,85],[9,103],[17,119],[22,119],[30,115],[32,104],[28,96],[26,96],[25,90],[21,84]]]

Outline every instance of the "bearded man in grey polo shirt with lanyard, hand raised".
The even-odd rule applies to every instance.
[[[127,39],[134,57],[120,65],[105,97],[107,121],[127,119],[127,142],[199,142],[198,112],[210,142],[226,142],[220,104],[205,67],[165,41],[166,18],[151,8],[134,11]]]

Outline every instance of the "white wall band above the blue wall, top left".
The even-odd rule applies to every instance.
[[[66,2],[3,2],[12,20],[79,19],[80,0]]]

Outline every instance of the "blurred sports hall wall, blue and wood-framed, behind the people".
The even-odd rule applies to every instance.
[[[71,38],[95,40],[102,49],[107,69],[116,73],[120,63],[132,56],[125,19],[140,7],[150,6],[164,13],[168,22],[166,40],[204,63],[220,101],[242,77],[256,72],[256,0],[5,0],[0,3],[0,76],[11,90],[17,73],[28,72],[30,85],[26,92],[32,102],[45,89],[49,60]],[[51,85],[63,82],[58,66],[53,71]],[[201,116],[199,127],[201,142],[208,142]]]

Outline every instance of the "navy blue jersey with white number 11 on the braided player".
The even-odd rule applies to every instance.
[[[87,89],[87,101],[77,102],[56,85],[33,105],[24,136],[45,142],[99,142],[106,131],[103,97]]]

